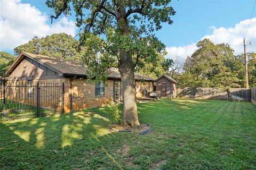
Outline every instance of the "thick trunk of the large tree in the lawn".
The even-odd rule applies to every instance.
[[[129,24],[124,18],[125,16],[125,1],[118,1],[117,9],[117,24],[118,30],[122,35],[129,34]],[[123,125],[124,126],[139,126],[139,119],[136,104],[136,90],[134,79],[134,64],[132,56],[125,49],[119,50],[119,72],[122,81],[122,98],[123,98]]]

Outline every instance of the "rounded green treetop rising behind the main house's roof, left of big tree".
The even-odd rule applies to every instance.
[[[81,60],[77,50],[78,41],[66,33],[54,33],[42,38],[34,37],[28,43],[14,48],[15,55],[21,52],[47,55],[70,60]]]

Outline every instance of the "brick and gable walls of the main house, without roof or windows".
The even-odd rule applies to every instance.
[[[87,82],[86,79],[71,79],[65,78],[63,75],[59,75],[57,72],[49,69],[48,67],[39,64],[38,62],[31,60],[28,57],[25,57],[18,66],[14,69],[14,71],[9,76],[9,79],[12,80],[12,83],[17,85],[27,84],[28,80],[33,80],[33,86],[36,86],[36,82],[39,83],[47,83],[47,86],[50,84],[56,85],[57,83],[61,84],[65,83],[65,92],[64,92],[64,112],[70,111],[79,111],[85,108],[97,107],[97,106],[105,106],[109,101],[113,100],[115,92],[114,92],[114,82],[120,81],[118,80],[107,80],[105,84],[105,94],[102,96],[95,96],[95,82],[91,80],[91,82]],[[10,81],[11,82],[11,81]],[[154,84],[153,82],[135,82],[136,86],[136,97],[143,97],[144,92],[153,91]],[[36,95],[28,96],[28,87],[26,88],[16,88],[12,89],[14,94],[9,94],[10,100],[18,101],[16,98],[19,98],[19,102],[26,103],[29,105],[36,105]],[[49,90],[49,89],[48,89]],[[54,91],[55,90],[55,91]],[[9,91],[12,93],[12,91]],[[44,98],[41,100],[41,105],[55,105],[55,101],[57,103],[62,102],[62,96],[54,96],[54,94],[58,94],[58,92],[62,92],[61,88],[52,88],[51,92],[47,92],[46,88],[41,88],[41,93],[44,94]],[[36,87],[33,88],[33,94],[36,94]],[[29,98],[29,99],[28,99]],[[42,96],[41,96],[42,98]],[[49,98],[54,100],[51,103]],[[54,99],[53,99],[54,98]],[[57,98],[57,99],[56,99]],[[31,103],[33,101],[34,103]]]

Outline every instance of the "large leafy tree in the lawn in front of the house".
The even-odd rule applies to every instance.
[[[153,31],[162,28],[161,23],[172,23],[175,11],[171,0],[47,0],[54,8],[57,19],[62,13],[76,13],[76,25],[81,28],[80,45],[87,52],[83,57],[90,75],[100,77],[103,71],[117,67],[122,80],[123,125],[139,125],[135,100],[134,71],[140,62],[154,63],[157,53],[165,46]],[[101,35],[100,37],[96,35]]]

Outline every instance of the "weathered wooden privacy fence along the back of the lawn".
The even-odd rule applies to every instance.
[[[234,101],[251,101],[251,89],[231,88]],[[228,100],[227,92],[217,88],[178,88],[177,96],[184,98]]]

